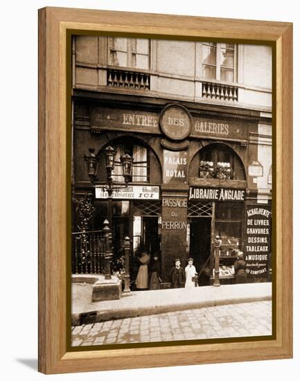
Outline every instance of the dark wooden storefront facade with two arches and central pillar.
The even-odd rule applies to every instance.
[[[156,100],[156,104],[153,100],[152,103],[144,100],[145,104],[141,104],[133,96],[121,99],[114,95],[112,100],[83,98],[75,102],[73,192],[77,195],[94,192],[82,160],[89,146],[100,152],[108,143],[120,144],[124,139],[136,141],[149,151],[147,181],[130,185],[159,187],[159,200],[113,200],[115,268],[122,255],[123,240],[130,236],[132,256],[140,245],[152,255],[159,254],[163,283],[169,282],[168,274],[177,257],[186,265],[186,259],[192,256],[197,271],[208,266],[212,277],[213,240],[219,235],[222,238],[221,282],[222,279],[232,281],[230,269],[236,258],[232,251],[245,251],[245,209],[256,197],[256,184],[247,177],[245,168],[249,161],[257,159],[257,148],[249,145],[249,133],[257,132],[258,115],[248,112],[246,117],[245,110],[229,112],[207,105],[197,105],[196,109],[194,104],[180,103],[175,105],[174,118],[172,107],[168,107],[167,116],[173,118],[171,124],[176,125],[175,119],[181,115],[186,118],[184,123],[191,124],[186,129],[188,133],[183,130],[181,136],[172,136],[172,128],[164,130],[160,124],[165,100]],[[181,113],[188,108],[193,112],[187,112],[186,117]],[[230,161],[231,166],[236,166],[236,178],[201,179],[199,163],[202,159]],[[101,161],[98,172],[98,183],[105,184]],[[189,192],[195,187],[243,189],[245,197],[240,202],[192,200]],[[107,201],[96,198],[95,207],[93,229],[97,230],[107,218]],[[136,234],[137,226],[139,234]],[[131,271],[134,281],[133,258]]]

